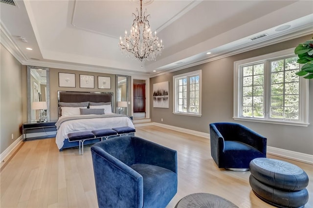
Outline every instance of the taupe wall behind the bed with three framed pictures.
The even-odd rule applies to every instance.
[[[103,74],[86,71],[75,71],[66,69],[50,68],[50,120],[58,120],[58,91],[77,91],[77,92],[113,92],[113,100],[115,101],[115,75]],[[76,87],[59,87],[59,72],[74,73]],[[93,75],[94,88],[80,88],[79,75]],[[111,89],[98,89],[98,76],[111,77]],[[115,105],[114,105],[115,109]]]

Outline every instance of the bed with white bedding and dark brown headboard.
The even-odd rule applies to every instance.
[[[113,106],[113,93],[58,91],[56,144],[59,150],[79,146],[78,141],[68,141],[68,133],[122,126],[134,128],[129,116],[112,113]],[[99,141],[99,138],[90,139],[84,144]]]

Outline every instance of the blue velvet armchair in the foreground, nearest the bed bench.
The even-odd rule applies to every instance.
[[[135,136],[91,146],[99,208],[165,208],[177,193],[177,151]]]

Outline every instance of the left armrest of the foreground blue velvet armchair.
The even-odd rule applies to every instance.
[[[91,147],[91,155],[99,208],[143,207],[142,176],[99,146]]]

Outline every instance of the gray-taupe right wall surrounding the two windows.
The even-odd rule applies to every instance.
[[[260,56],[284,49],[296,47],[300,42],[310,40],[312,35],[281,42],[260,49],[241,53],[213,62],[193,66],[173,73],[151,78],[150,96],[154,83],[169,81],[169,108],[154,108],[151,103],[151,120],[166,125],[178,126],[195,131],[209,133],[208,125],[214,122],[238,122],[246,125],[268,138],[268,146],[313,154],[313,80],[309,89],[309,125],[308,127],[274,125],[242,122],[233,120],[233,71],[234,62]],[[190,71],[202,70],[202,116],[184,116],[173,114],[173,76]],[[303,78],[302,78],[303,79]],[[161,122],[163,119],[163,122]]]

